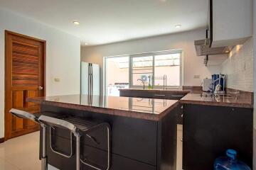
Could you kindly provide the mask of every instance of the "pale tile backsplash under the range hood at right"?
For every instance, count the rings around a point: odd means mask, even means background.
[[[237,45],[222,64],[221,73],[227,74],[227,87],[241,91],[253,91],[253,38]]]

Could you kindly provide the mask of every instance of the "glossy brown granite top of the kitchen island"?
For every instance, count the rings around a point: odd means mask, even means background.
[[[27,98],[27,101],[50,106],[155,121],[161,120],[161,118],[173,108],[178,106],[178,101],[175,100],[118,96],[87,96],[80,94]]]

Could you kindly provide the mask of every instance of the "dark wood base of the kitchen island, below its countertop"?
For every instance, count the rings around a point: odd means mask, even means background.
[[[180,109],[180,108],[179,108]],[[176,170],[176,116],[174,108],[159,121],[127,118],[101,113],[90,113],[55,106],[42,106],[42,111],[76,116],[81,119],[97,119],[111,126],[111,169],[112,170]],[[47,131],[48,163],[60,170],[75,169],[75,137],[73,137],[74,155],[65,158],[50,149],[49,129]],[[82,137],[81,154],[88,162],[106,169],[107,167],[107,131],[90,132],[95,144],[88,137]],[[53,141],[57,149],[70,152],[70,135],[67,130],[55,128]],[[82,165],[82,169],[92,169]]]

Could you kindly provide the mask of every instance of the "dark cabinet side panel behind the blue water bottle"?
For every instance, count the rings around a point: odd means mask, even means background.
[[[183,104],[183,169],[213,169],[235,149],[252,168],[252,108]]]

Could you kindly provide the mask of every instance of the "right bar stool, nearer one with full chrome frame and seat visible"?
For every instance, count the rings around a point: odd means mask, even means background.
[[[43,122],[45,125],[48,125],[50,127],[50,145],[52,145],[51,140],[51,129],[56,128],[63,128],[66,130],[69,130],[70,133],[72,133],[75,136],[76,139],[76,170],[80,170],[80,162],[82,164],[85,164],[87,166],[92,167],[93,169],[102,170],[100,167],[92,165],[88,162],[85,162],[85,160],[80,159],[80,137],[89,137],[93,142],[97,143],[97,140],[95,140],[94,137],[90,136],[87,132],[91,132],[92,130],[96,130],[97,128],[106,128],[107,129],[107,169],[110,169],[110,124],[109,123],[102,123],[99,120],[81,120],[79,118],[65,118],[65,119],[59,119],[59,118],[52,118],[46,115],[41,115],[38,120],[40,122]],[[70,137],[70,143],[72,143],[72,138]],[[71,146],[72,147],[72,146]],[[63,157],[69,157],[68,155],[63,155],[61,152],[56,152],[53,147],[51,147],[53,152],[62,155]],[[71,149],[72,152],[72,149]],[[73,153],[73,152],[72,152]]]

